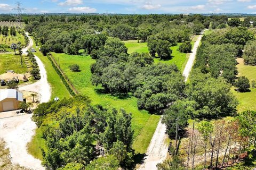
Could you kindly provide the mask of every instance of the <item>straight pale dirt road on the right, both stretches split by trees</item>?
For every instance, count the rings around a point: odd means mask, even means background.
[[[185,77],[185,81],[188,79],[188,75],[192,69],[192,66],[194,64],[195,58],[196,58],[196,51],[200,44],[200,41],[202,39],[202,35],[200,35],[194,45],[194,48],[192,50],[192,53],[189,56],[188,62],[186,64],[186,67],[183,71],[183,76]],[[168,143],[165,143],[167,140],[166,132],[166,125],[162,124],[161,120],[158,122],[156,131],[153,135],[153,138],[150,141],[149,147],[146,152],[146,157],[144,163],[139,167],[140,170],[155,170],[156,165],[158,163],[162,163],[163,160],[167,156],[168,151]]]

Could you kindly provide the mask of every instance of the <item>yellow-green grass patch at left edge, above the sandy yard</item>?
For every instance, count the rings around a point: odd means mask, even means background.
[[[0,74],[6,73],[7,70],[13,70],[15,73],[26,73],[27,66],[22,56],[23,67],[20,64],[20,55],[0,54]]]

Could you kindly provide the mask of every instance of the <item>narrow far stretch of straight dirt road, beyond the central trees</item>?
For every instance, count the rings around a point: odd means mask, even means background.
[[[205,31],[205,30],[204,30]],[[204,32],[203,31],[203,32]],[[189,58],[188,58],[188,62],[185,66],[185,69],[183,71],[183,76],[185,77],[185,81],[188,80],[188,75],[193,67],[193,64],[194,64],[194,61],[196,59],[196,52],[197,52],[197,48],[199,47],[200,45],[200,42],[201,42],[201,39],[203,37],[203,32],[201,33],[201,35],[199,35],[199,37],[197,38],[195,44],[194,44],[194,47],[192,49],[192,53],[190,53],[189,55]]]

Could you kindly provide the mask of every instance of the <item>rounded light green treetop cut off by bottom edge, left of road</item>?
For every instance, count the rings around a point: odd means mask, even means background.
[[[116,156],[108,155],[94,159],[93,162],[85,167],[85,170],[117,170],[118,168],[119,161]]]

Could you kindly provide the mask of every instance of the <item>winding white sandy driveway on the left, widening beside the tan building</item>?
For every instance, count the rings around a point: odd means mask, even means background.
[[[33,40],[29,37],[29,46],[22,50],[23,54],[33,46]],[[41,95],[41,103],[47,102],[51,97],[51,88],[47,81],[46,70],[42,61],[35,56],[38,63],[41,80],[28,86],[20,87],[19,90],[33,91]],[[0,119],[1,138],[6,142],[6,148],[10,149],[10,157],[13,164],[36,170],[45,169],[41,160],[34,158],[27,151],[27,143],[35,134],[36,124],[31,120],[32,114]]]

